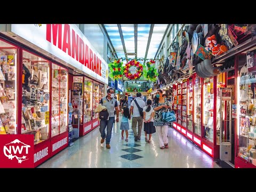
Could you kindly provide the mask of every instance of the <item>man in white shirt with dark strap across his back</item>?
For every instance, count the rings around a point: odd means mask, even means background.
[[[140,140],[141,136],[141,127],[143,123],[143,107],[146,106],[145,101],[142,100],[141,98],[141,93],[138,92],[136,94],[136,97],[132,102],[131,102],[131,108],[130,108],[130,114],[133,114],[132,117],[132,131],[134,133],[134,141]],[[138,122],[138,133],[136,130],[137,127],[137,122]]]

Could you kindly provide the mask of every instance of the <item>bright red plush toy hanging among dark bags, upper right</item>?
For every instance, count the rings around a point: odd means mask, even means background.
[[[206,38],[205,49],[212,51],[212,54],[214,56],[220,55],[220,54],[228,51],[226,45],[217,44],[215,35],[212,35],[211,37]]]

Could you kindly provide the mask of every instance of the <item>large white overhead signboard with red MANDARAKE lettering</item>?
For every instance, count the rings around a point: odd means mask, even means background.
[[[7,27],[6,27],[7,28]],[[75,24],[11,24],[11,32],[108,84],[108,65]]]

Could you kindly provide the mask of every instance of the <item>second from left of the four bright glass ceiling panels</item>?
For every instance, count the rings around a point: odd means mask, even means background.
[[[121,24],[124,44],[127,53],[135,53],[134,45],[134,24]],[[134,55],[127,55],[128,58],[134,58]]]

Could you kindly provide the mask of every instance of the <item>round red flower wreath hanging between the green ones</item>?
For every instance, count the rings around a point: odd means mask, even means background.
[[[143,73],[143,66],[139,61],[131,60],[126,63],[124,75],[129,79],[138,79]]]

